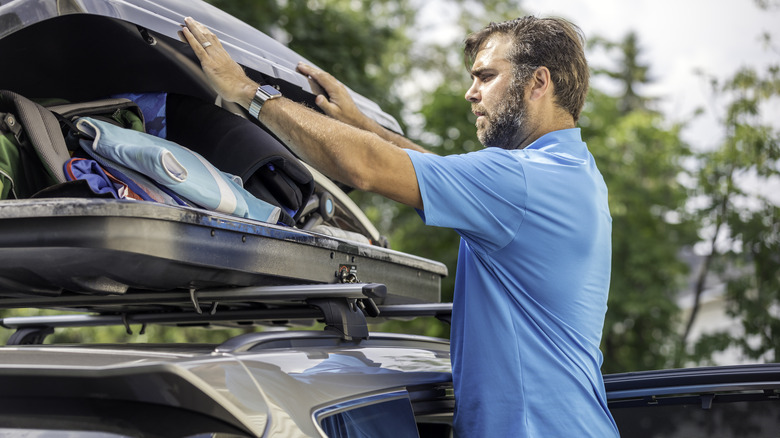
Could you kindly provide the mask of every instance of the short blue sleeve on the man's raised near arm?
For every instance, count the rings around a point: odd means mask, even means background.
[[[427,225],[453,228],[483,252],[510,242],[525,217],[522,164],[510,153],[488,148],[438,156],[407,151],[420,187]]]

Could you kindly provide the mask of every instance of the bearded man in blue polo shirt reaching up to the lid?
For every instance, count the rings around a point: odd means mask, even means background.
[[[330,118],[258,91],[199,23],[187,19],[182,33],[219,94],[302,159],[461,235],[451,347],[459,436],[618,434],[598,349],[611,218],[575,128],[588,89],[576,27],[525,17],[469,36],[466,99],[486,149],[447,157],[370,121],[327,73],[299,66],[327,93],[316,104]]]

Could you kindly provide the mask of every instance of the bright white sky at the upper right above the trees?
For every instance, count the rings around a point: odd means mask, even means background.
[[[629,31],[639,37],[656,82],[644,94],[661,98],[669,120],[687,120],[697,107],[710,111],[696,119],[683,137],[693,146],[712,147],[722,138],[713,111],[709,85],[695,74],[700,69],[719,79],[741,66],[780,64],[780,2],[761,10],[753,0],[525,0],[537,16],[560,16],[573,21],[586,38],[595,35],[618,41]],[[769,32],[775,51],[759,40]],[[591,64],[600,62],[589,60]],[[780,102],[766,109],[767,120],[780,129]]]

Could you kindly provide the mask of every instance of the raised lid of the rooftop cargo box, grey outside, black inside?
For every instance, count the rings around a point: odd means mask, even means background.
[[[314,63],[201,0],[5,2],[0,5],[0,53],[13,67],[0,69],[1,88],[73,101],[160,90],[215,101],[197,58],[177,36],[187,16],[208,26],[252,79],[316,108],[311,85],[295,70],[301,61]],[[364,114],[401,133],[398,122],[376,103],[350,94]]]

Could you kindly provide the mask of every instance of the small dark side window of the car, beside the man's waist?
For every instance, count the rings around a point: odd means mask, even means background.
[[[398,394],[398,393],[395,393]],[[419,437],[407,396],[383,395],[329,408],[320,426],[330,438]],[[325,416],[327,415],[327,416]]]

